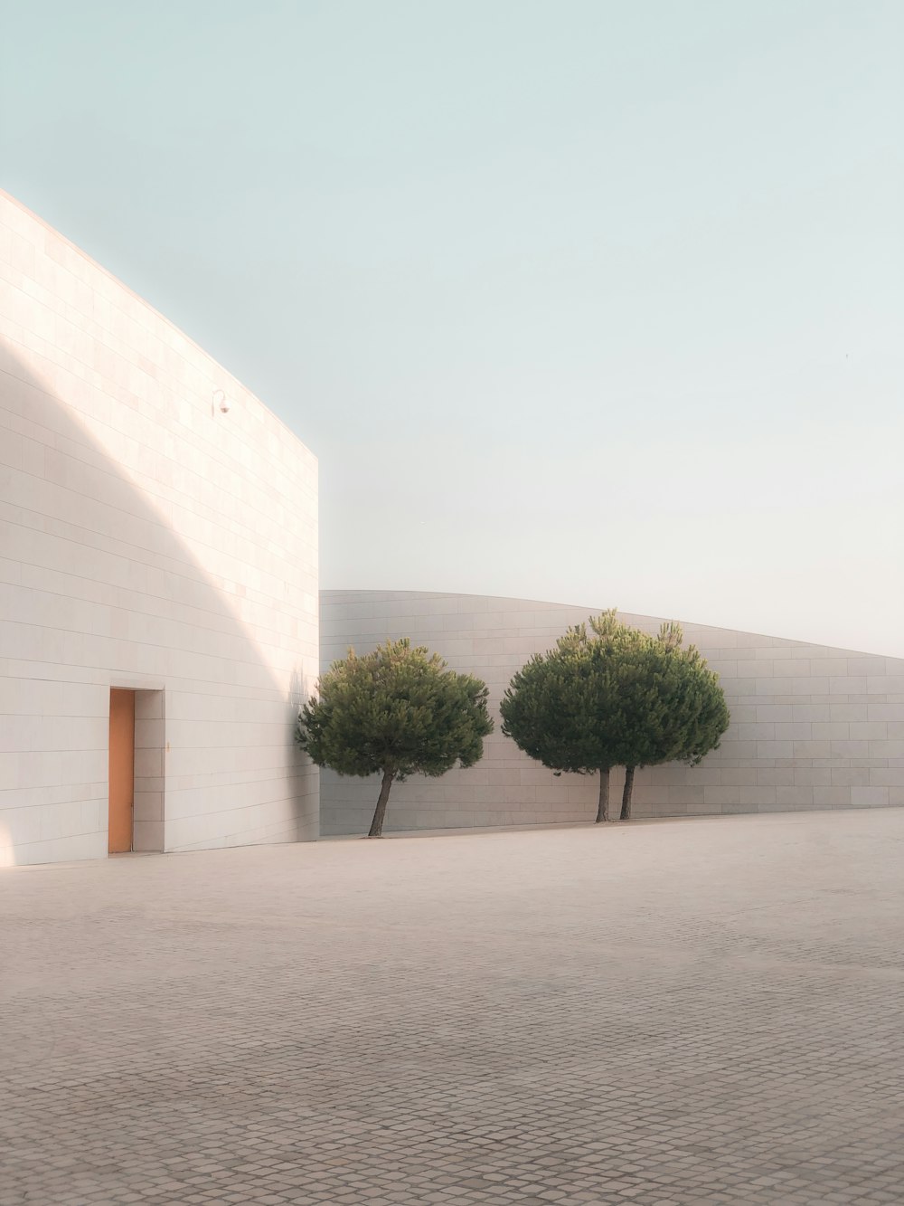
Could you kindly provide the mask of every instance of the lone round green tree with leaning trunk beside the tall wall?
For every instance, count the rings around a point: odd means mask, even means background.
[[[487,686],[446,668],[439,654],[387,640],[334,662],[319,695],[301,709],[297,740],[317,766],[339,774],[382,773],[368,837],[380,837],[393,781],[474,766],[493,731]]]

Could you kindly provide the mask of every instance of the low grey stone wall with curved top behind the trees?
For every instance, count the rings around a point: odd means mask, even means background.
[[[348,645],[364,651],[387,637],[410,637],[438,650],[453,669],[483,678],[495,709],[515,671],[589,614],[470,595],[324,591],[321,661],[327,668]],[[651,616],[622,619],[647,632],[661,624]],[[639,771],[635,815],[904,806],[904,660],[702,625],[685,625],[685,634],[721,675],[732,725],[699,767]],[[498,712],[495,719],[476,767],[393,786],[387,830],[595,816],[595,778],[554,777],[503,737]],[[377,790],[376,779],[323,771],[322,832],[366,832]],[[614,792],[621,792],[615,774]]]

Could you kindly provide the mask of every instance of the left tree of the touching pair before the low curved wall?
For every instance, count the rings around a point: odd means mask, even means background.
[[[503,732],[551,767],[599,774],[597,821],[609,820],[609,783],[624,763],[632,715],[628,687],[641,675],[650,638],[616,619],[615,610],[559,637],[512,678],[500,712]]]

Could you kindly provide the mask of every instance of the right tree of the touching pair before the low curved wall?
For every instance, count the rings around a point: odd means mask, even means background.
[[[630,820],[634,772],[662,762],[697,766],[718,748],[729,713],[718,675],[694,645],[683,646],[681,626],[663,624],[624,678],[627,740],[622,750],[623,821]]]

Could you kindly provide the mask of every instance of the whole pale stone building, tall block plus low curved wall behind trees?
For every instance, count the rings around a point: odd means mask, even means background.
[[[0,193],[0,866],[363,832],[376,781],[294,744],[321,658],[411,637],[497,707],[588,611],[330,591],[319,640],[313,456]],[[639,772],[639,816],[904,806],[904,660],[686,632],[732,727],[699,767]],[[595,798],[497,730],[477,766],[395,784],[386,827],[582,821]]]

